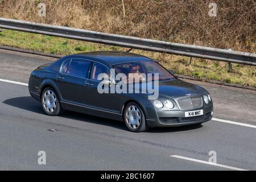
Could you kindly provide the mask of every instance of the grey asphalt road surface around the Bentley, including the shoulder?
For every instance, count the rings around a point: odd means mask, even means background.
[[[55,60],[2,50],[0,57],[0,78],[25,83],[38,65]],[[214,118],[256,125],[255,91],[195,83],[212,95]],[[46,165],[38,164],[39,151],[46,152]],[[0,81],[0,169],[228,169],[171,157],[208,161],[209,151],[218,164],[255,170],[256,129],[209,121],[131,133],[122,122],[85,114],[50,117],[27,86]]]

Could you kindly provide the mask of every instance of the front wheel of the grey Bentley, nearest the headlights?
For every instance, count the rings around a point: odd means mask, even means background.
[[[135,102],[127,104],[123,114],[123,119],[125,121],[125,125],[130,131],[143,132],[149,129],[143,110]]]

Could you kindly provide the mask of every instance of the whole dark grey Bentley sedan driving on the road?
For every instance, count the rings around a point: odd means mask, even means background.
[[[28,88],[48,115],[72,110],[123,121],[134,132],[200,125],[213,117],[207,90],[129,52],[64,56],[32,71]]]

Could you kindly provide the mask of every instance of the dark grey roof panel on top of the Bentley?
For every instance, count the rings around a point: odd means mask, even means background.
[[[138,62],[138,61],[154,61],[146,56],[138,55],[136,53],[131,53],[131,52],[123,52],[123,51],[83,52],[83,53],[71,55],[71,57],[73,58],[79,57],[79,58],[98,61],[102,64],[109,65],[110,67],[115,64],[123,64],[123,63]]]

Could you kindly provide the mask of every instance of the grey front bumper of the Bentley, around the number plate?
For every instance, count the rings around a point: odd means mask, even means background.
[[[175,127],[195,125],[210,121],[213,117],[213,105],[202,107],[194,110],[204,110],[203,115],[195,117],[185,117],[185,111],[156,111],[155,119],[146,119],[147,125],[150,127]]]

